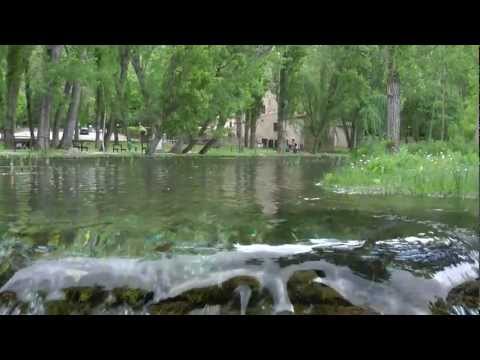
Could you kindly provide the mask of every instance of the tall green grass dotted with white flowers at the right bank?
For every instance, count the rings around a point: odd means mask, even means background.
[[[470,149],[436,142],[388,153],[382,143],[368,144],[322,184],[344,192],[478,198],[478,154]]]

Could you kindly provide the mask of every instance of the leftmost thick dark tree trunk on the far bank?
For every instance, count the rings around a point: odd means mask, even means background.
[[[7,94],[5,116],[5,146],[15,149],[15,128],[17,118],[17,100],[23,73],[23,46],[9,45],[7,53]]]

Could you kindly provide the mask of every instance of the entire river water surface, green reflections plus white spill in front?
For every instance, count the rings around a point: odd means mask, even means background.
[[[0,261],[23,269],[0,286],[138,285],[158,301],[251,276],[291,312],[289,278],[317,271],[354,305],[429,314],[478,278],[478,201],[328,193],[318,183],[336,162],[0,160]]]

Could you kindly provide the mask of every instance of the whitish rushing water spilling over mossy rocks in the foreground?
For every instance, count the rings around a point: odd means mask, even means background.
[[[287,282],[297,271],[321,270],[325,277],[316,282],[326,284],[354,305],[368,306],[381,314],[428,314],[435,298],[445,298],[453,287],[478,278],[478,252],[468,261],[446,266],[432,278],[414,276],[405,270],[391,269],[387,281],[372,282],[347,266],[326,260],[303,261],[281,267],[279,257],[294,257],[321,248],[354,250],[362,241],[313,239],[311,245],[237,245],[236,251],[210,256],[178,255],[159,260],[122,258],[65,258],[42,260],[21,269],[0,289],[14,292],[17,298],[35,303],[35,294],[47,293],[47,299],[62,299],[63,289],[101,286],[106,290],[134,288],[153,292],[152,302],[175,297],[194,288],[220,285],[237,276],[257,279],[274,301],[274,312],[293,312]],[[255,260],[253,262],[252,260]],[[241,313],[251,296],[251,289],[239,287]],[[35,306],[32,305],[32,306]],[[37,304],[36,313],[42,313]],[[39,310],[40,309],[40,310]],[[216,313],[217,308],[197,309],[194,313]]]

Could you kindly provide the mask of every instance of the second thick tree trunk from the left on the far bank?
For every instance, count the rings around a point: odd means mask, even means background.
[[[62,49],[63,45],[47,45],[46,67],[50,64],[58,63]],[[45,74],[47,70],[45,69]],[[36,143],[36,147],[41,150],[47,150],[50,143],[50,108],[52,106],[52,90],[54,86],[54,80],[48,79],[46,75],[45,81],[47,86],[40,105],[40,121]]]

